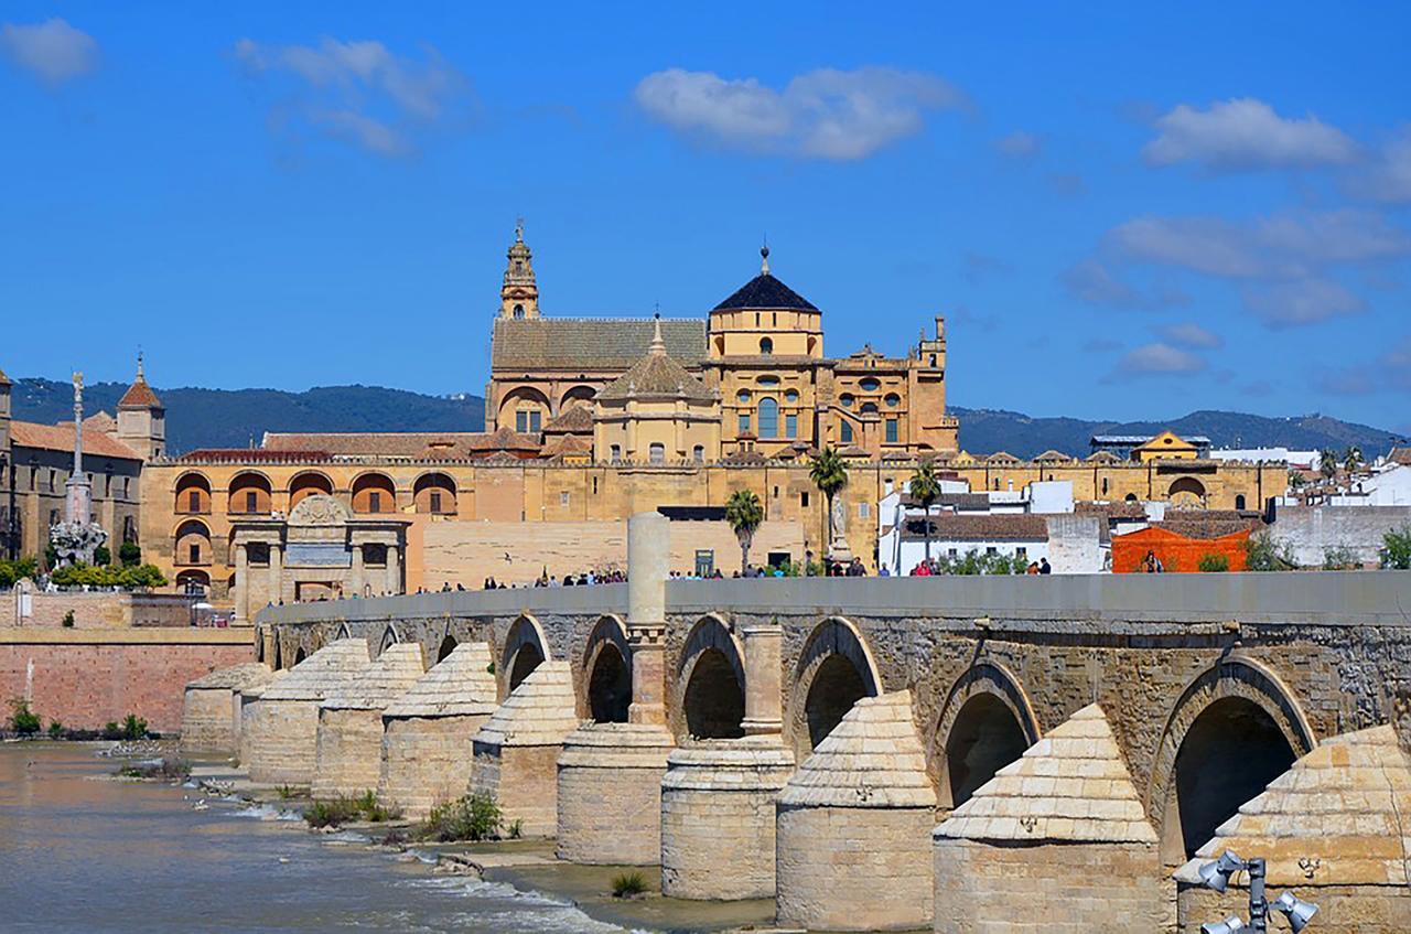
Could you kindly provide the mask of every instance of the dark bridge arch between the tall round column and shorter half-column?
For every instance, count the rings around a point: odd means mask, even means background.
[[[715,614],[686,636],[676,676],[676,704],[686,734],[697,739],[745,735],[745,665],[739,641]]]

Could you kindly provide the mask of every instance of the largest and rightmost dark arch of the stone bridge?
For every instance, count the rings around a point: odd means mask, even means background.
[[[1151,766],[1146,806],[1163,863],[1194,855],[1316,742],[1294,693],[1264,665],[1226,657],[1198,674],[1167,717]]]

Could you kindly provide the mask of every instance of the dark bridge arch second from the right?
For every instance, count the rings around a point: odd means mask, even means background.
[[[951,686],[928,749],[940,804],[955,808],[1041,736],[1019,677],[998,662],[978,662]]]

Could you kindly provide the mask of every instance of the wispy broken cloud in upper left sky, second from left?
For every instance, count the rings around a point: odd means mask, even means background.
[[[285,128],[309,127],[378,155],[413,152],[420,131],[461,120],[474,104],[466,76],[429,47],[418,62],[377,41],[261,45],[244,38],[234,55],[251,76],[292,85],[296,103],[281,121]]]

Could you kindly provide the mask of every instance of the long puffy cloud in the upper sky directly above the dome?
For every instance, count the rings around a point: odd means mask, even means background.
[[[799,75],[783,90],[753,78],[672,68],[643,78],[634,93],[652,119],[724,147],[820,159],[861,159],[914,135],[931,110],[965,97],[924,72],[893,68]]]

